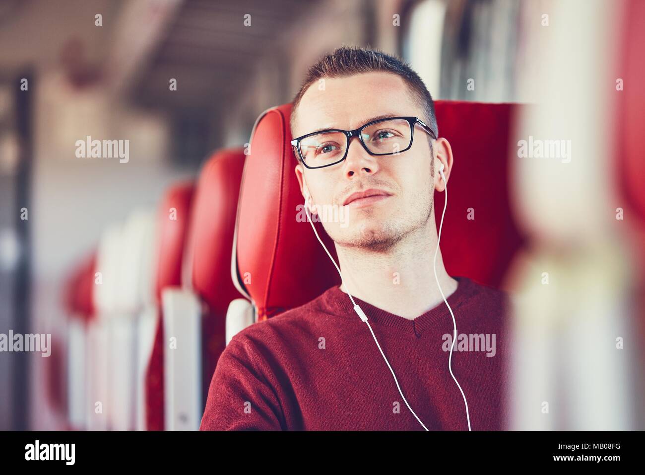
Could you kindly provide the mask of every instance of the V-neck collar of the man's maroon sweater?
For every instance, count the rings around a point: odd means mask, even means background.
[[[452,308],[454,312],[462,302],[466,301],[473,295],[473,293],[475,293],[475,285],[472,280],[468,279],[468,277],[453,276],[453,279],[457,280],[457,290],[449,295],[447,300],[448,304],[450,304],[450,308]],[[347,293],[341,290],[339,285],[329,288],[323,293],[323,295],[321,295],[321,297],[324,304],[334,313],[338,312],[345,316],[355,317],[357,321],[360,321],[360,317],[353,310],[353,304],[350,297]],[[361,306],[361,309],[367,315],[369,322],[376,322],[383,326],[399,328],[400,330],[413,333],[417,335],[417,337],[421,336],[421,333],[424,332],[424,330],[432,327],[436,322],[441,321],[441,319],[446,317],[446,315],[452,320],[452,316],[450,315],[450,311],[448,311],[448,307],[446,307],[445,302],[441,302],[436,307],[431,308],[411,320],[401,317],[400,315],[394,315],[389,311],[382,310],[381,308],[362,301],[353,295],[352,297],[354,298],[354,301]]]

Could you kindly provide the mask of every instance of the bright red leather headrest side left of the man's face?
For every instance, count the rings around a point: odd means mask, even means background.
[[[341,282],[311,225],[296,220],[304,199],[293,172],[290,114],[286,104],[258,119],[239,198],[237,278],[255,303],[258,321]],[[336,259],[332,241],[324,232],[323,237]]]

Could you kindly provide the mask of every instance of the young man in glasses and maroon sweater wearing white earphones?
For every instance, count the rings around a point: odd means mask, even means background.
[[[338,48],[310,68],[291,129],[312,212],[348,212],[323,222],[342,285],[233,337],[201,429],[503,428],[506,295],[444,269],[433,193],[453,156],[424,83],[392,56]]]

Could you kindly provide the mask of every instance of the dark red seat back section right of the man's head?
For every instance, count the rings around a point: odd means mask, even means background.
[[[513,255],[524,243],[510,203],[508,145],[521,106],[437,101],[439,135],[452,145],[448,207],[441,254],[450,275],[499,287]],[[437,229],[444,193],[435,192]],[[472,208],[474,219],[468,219]],[[471,216],[473,216],[471,215]]]

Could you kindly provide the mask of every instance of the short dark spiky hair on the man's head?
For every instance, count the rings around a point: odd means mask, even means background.
[[[435,103],[419,74],[414,72],[406,61],[385,54],[381,50],[348,46],[337,48],[332,54],[323,56],[309,68],[303,85],[292,101],[290,118],[292,132],[295,111],[300,105],[304,93],[313,83],[322,78],[342,78],[374,71],[392,72],[406,82],[412,100],[419,104],[424,111],[424,121],[435,133],[435,137],[439,137]]]

